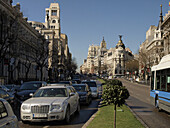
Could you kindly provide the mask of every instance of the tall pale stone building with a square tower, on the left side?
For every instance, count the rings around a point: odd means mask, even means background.
[[[51,3],[50,7],[46,8],[45,23],[28,22],[50,42],[48,59],[49,79],[64,79],[67,65],[72,58],[68,47],[68,37],[66,34],[61,33],[59,4]]]

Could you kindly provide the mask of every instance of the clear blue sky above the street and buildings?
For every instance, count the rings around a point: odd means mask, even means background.
[[[163,16],[168,12],[169,0],[13,0],[21,4],[21,11],[29,21],[45,21],[45,8],[60,4],[61,32],[67,34],[70,52],[78,66],[87,58],[91,44],[115,47],[118,35],[133,53],[137,53],[151,25],[158,25],[160,4]]]

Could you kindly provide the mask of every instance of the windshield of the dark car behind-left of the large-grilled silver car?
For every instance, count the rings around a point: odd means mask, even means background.
[[[21,86],[21,90],[37,90],[38,88],[41,87],[41,83],[24,83]]]

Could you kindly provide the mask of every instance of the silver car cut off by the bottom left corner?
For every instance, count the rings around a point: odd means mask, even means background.
[[[10,104],[0,98],[0,128],[18,128],[18,119]]]

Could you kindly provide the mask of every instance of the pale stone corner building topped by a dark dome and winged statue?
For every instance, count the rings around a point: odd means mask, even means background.
[[[133,59],[133,54],[129,48],[125,48],[122,36],[115,48],[110,48],[105,54],[105,64],[107,65],[107,74],[113,78],[125,75],[125,62]]]

